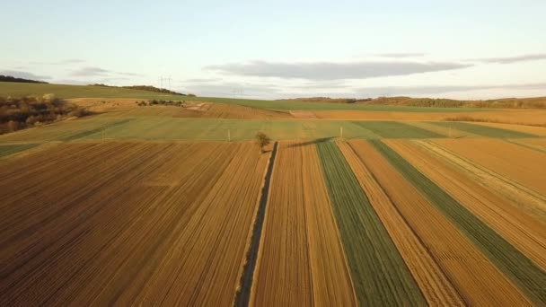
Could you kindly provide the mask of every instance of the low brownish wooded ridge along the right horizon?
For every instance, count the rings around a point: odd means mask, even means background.
[[[356,104],[370,104],[370,105],[429,107],[429,108],[546,109],[546,97],[503,98],[503,99],[484,100],[484,101],[459,101],[459,100],[443,99],[443,98],[412,98],[412,97],[406,97],[406,96],[378,97],[374,99],[311,97],[311,98],[287,99],[282,101],[356,103]]]

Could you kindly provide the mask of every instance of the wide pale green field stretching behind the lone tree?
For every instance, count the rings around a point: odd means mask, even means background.
[[[102,114],[58,122],[0,136],[0,144],[74,140],[251,140],[264,132],[274,140],[339,137],[379,138],[372,131],[342,120],[245,120],[222,118],[114,117]]]

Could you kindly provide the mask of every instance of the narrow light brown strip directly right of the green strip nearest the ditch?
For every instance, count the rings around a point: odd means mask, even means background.
[[[418,283],[429,305],[462,306],[462,298],[454,285],[439,268],[427,248],[406,223],[399,211],[385,194],[374,175],[360,162],[357,154],[347,143],[338,143],[339,149],[355,173],[374,210],[400,251],[410,272]]]

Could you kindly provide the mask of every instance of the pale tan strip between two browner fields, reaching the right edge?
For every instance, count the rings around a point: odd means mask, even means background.
[[[462,171],[481,186],[510,200],[510,203],[514,204],[518,209],[546,222],[546,197],[513,180],[506,179],[495,171],[490,171],[468,159],[464,159],[435,143],[417,140],[415,143],[425,148],[428,153],[434,153],[445,162],[450,163],[450,165]]]

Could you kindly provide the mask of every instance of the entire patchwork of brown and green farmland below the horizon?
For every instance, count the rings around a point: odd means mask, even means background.
[[[544,127],[52,89],[101,111],[0,136],[2,306],[546,303]]]

